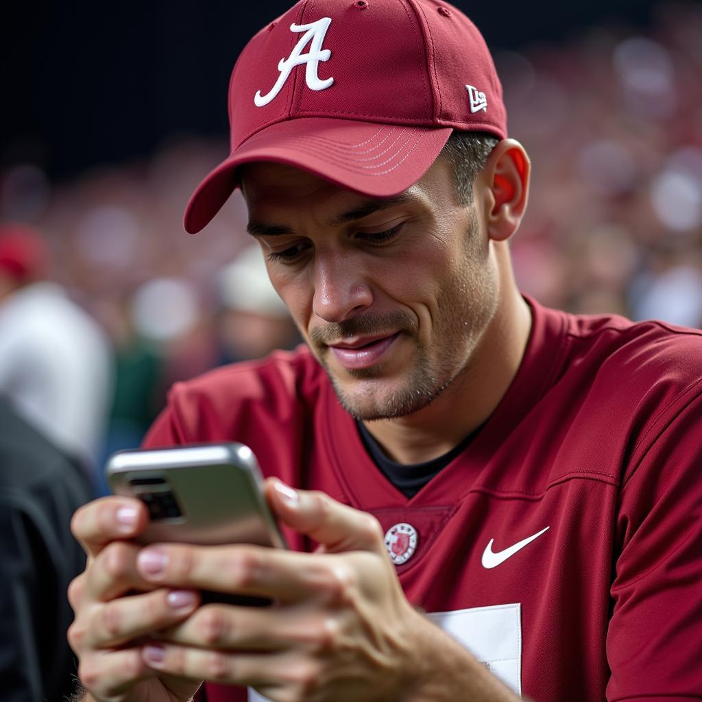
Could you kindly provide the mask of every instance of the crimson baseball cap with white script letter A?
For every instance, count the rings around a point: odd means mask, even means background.
[[[199,232],[275,161],[371,197],[416,183],[453,129],[505,138],[502,86],[477,27],[437,0],[300,0],[256,34],[230,80],[231,153],[185,210]]]

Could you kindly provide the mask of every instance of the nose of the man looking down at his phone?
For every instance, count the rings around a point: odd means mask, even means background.
[[[351,256],[317,256],[312,301],[317,317],[325,322],[343,322],[372,302],[371,287]]]

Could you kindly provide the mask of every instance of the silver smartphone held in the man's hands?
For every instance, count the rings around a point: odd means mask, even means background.
[[[115,495],[137,498],[149,510],[149,523],[136,538],[140,543],[286,548],[265,501],[256,456],[244,444],[119,451],[107,461],[105,477]],[[270,604],[259,597],[206,591],[203,602]]]

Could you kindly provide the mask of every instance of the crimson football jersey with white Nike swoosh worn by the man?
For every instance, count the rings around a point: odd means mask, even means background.
[[[406,596],[536,702],[702,698],[702,332],[529,304],[505,397],[411,499],[304,347],[174,386],[146,444],[237,440],[266,475],[411,525]]]

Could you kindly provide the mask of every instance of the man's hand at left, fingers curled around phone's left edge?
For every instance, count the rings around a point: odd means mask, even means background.
[[[183,621],[199,604],[193,590],[159,588],[140,576],[140,547],[127,540],[147,521],[140,501],[107,497],[80,508],[71,523],[88,563],[69,587],[75,621],[68,639],[79,657],[81,682],[98,702],[185,702],[199,687],[143,660],[140,639]]]

